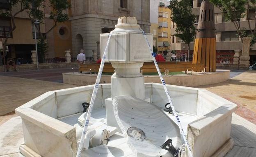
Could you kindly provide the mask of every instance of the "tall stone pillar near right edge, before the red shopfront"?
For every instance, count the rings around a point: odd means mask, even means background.
[[[242,55],[240,56],[239,65],[249,68],[249,65],[250,65],[249,53],[250,53],[251,38],[250,37],[244,37],[242,40],[243,40],[243,43],[242,43]]]

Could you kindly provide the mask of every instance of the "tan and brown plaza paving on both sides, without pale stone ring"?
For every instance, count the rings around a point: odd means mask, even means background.
[[[0,73],[0,125],[14,117],[14,109],[52,90],[76,85],[62,82],[62,73],[76,69],[42,69]],[[256,124],[256,71],[232,71],[231,79],[218,84],[197,86],[238,104],[236,113]]]

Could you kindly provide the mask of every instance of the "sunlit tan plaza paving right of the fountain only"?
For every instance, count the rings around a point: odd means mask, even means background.
[[[204,88],[238,105],[236,114],[256,124],[256,71],[238,72],[231,79]]]

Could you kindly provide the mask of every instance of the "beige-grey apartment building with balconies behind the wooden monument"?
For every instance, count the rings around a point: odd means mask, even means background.
[[[199,10],[201,2],[203,0],[191,0],[192,13],[199,17]],[[254,12],[250,12],[249,15],[246,15],[245,18],[241,19],[240,25],[241,28],[245,27],[249,31],[248,18],[254,16]],[[253,22],[254,23],[254,20]],[[254,27],[254,26],[253,26]],[[242,42],[238,38],[235,26],[232,22],[227,21],[221,10],[215,7],[215,37],[216,37],[216,62],[217,63],[233,63],[233,55],[235,50],[242,50]],[[171,28],[171,36],[175,33],[175,28]],[[190,52],[190,57],[192,57],[194,42],[190,44],[192,48]],[[170,49],[175,50],[178,56],[187,55],[187,44],[185,44],[180,39],[174,37],[171,40]],[[250,64],[256,62],[256,44],[251,46],[250,50]]]

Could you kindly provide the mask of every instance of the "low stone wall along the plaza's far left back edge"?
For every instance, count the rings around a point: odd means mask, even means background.
[[[39,69],[61,69],[61,68],[78,68],[78,62],[63,62],[63,63],[41,63]],[[16,65],[17,71],[36,70],[37,64],[21,64]],[[0,66],[0,72],[4,72],[4,66]],[[10,66],[10,71],[13,71],[13,66]]]

